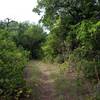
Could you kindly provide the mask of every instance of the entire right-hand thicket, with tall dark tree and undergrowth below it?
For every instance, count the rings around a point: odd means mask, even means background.
[[[78,86],[84,81],[93,86],[87,100],[100,100],[100,0],[38,0],[33,11],[44,11],[41,22],[50,30],[44,59],[70,66]]]

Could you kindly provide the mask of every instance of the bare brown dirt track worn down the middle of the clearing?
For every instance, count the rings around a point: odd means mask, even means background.
[[[41,98],[40,100],[55,100],[54,75],[59,71],[56,65],[36,63],[41,71]]]

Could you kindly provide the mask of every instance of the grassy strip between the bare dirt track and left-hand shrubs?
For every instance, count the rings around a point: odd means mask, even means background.
[[[24,71],[26,86],[29,88],[30,96],[26,100],[40,100],[40,69],[36,61],[29,61]]]

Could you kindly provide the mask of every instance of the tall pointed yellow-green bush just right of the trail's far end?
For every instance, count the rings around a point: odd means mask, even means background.
[[[66,29],[59,18],[46,38],[42,49],[45,59],[62,63],[66,57]]]

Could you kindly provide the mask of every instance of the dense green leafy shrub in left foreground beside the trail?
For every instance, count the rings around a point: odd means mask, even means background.
[[[28,52],[16,47],[9,39],[0,36],[0,97],[8,100],[15,91],[24,86],[23,69]],[[10,98],[11,100],[11,98]]]

